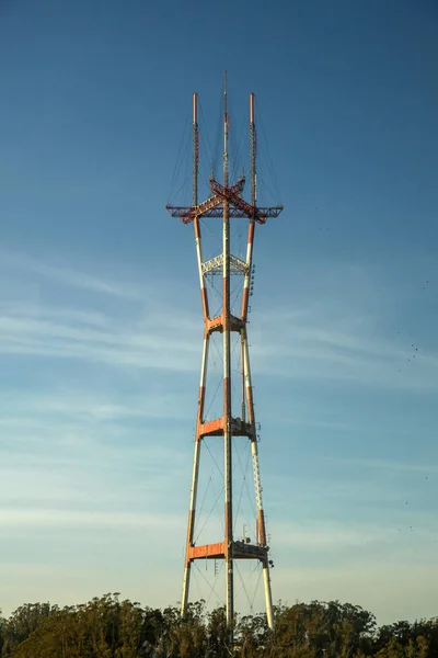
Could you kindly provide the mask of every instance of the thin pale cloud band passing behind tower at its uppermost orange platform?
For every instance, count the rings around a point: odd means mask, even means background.
[[[88,317],[76,310],[62,316],[51,308],[31,306],[27,310],[10,310],[0,318],[0,352],[125,367],[196,371],[201,336],[198,318],[182,313],[176,328],[175,316],[160,316],[157,309],[143,313],[140,319],[120,319],[103,313]],[[418,353],[416,362],[407,364],[410,352],[405,349],[379,338],[349,336],[336,327],[321,331],[322,324],[324,318],[316,316],[308,318],[306,326],[289,325],[275,343],[261,331],[252,348],[254,372],[392,389],[437,389],[435,354]],[[401,366],[404,373],[399,372]]]

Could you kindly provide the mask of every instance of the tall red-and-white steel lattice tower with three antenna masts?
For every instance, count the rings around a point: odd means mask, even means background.
[[[191,489],[191,503],[188,513],[188,527],[186,540],[186,555],[184,567],[182,614],[188,603],[191,566],[195,559],[223,559],[226,560],[226,613],[227,625],[230,633],[230,644],[233,644],[234,619],[234,574],[233,560],[260,560],[263,566],[266,614],[270,628],[274,625],[273,602],[269,579],[269,559],[265,529],[265,515],[262,502],[262,487],[258,468],[257,434],[254,417],[253,392],[250,370],[250,354],[247,343],[247,314],[249,297],[252,286],[253,246],[256,224],[265,224],[268,217],[277,217],[283,206],[258,207],[256,205],[256,132],[254,123],[254,94],[250,94],[250,177],[251,203],[242,197],[245,179],[241,177],[234,184],[229,182],[229,115],[227,109],[227,73],[223,86],[223,182],[222,184],[210,178],[210,195],[206,201],[198,201],[198,97],[193,94],[193,205],[166,206],[173,217],[181,217],[184,224],[194,224],[196,253],[199,270],[200,296],[204,311],[204,349],[200,371],[200,385],[195,433],[195,454],[193,463],[193,478]],[[222,253],[204,261],[201,249],[200,218],[222,218]],[[242,218],[249,220],[246,260],[241,260],[230,252],[230,220]],[[210,317],[209,299],[206,285],[207,274],[222,275],[222,308],[220,315]],[[241,314],[237,317],[230,310],[230,275],[243,277],[243,293],[241,299]],[[241,343],[241,417],[234,417],[231,409],[231,354],[230,334],[234,331],[240,334]],[[223,358],[223,412],[221,418],[205,420],[206,376],[208,367],[209,341],[214,332],[222,333]],[[206,436],[223,436],[224,453],[224,537],[215,544],[196,546],[194,544],[196,499],[199,475],[199,458],[203,439]],[[256,541],[254,544],[234,541],[233,537],[233,508],[232,508],[232,440],[233,436],[246,436],[251,442],[251,454],[254,472],[255,501],[257,509]],[[272,564],[272,563],[270,563]]]

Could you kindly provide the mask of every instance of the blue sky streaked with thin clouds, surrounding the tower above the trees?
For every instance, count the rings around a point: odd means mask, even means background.
[[[250,325],[274,599],[436,615],[436,4],[158,4],[0,7],[0,606],[181,595],[203,327],[164,206],[227,68],[285,204]]]

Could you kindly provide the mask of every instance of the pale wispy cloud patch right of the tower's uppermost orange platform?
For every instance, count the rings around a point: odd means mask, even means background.
[[[399,390],[436,390],[438,355],[384,337],[383,318],[372,326],[348,307],[326,304],[257,317],[252,354],[258,370],[293,379],[338,381]],[[267,319],[266,319],[267,318]],[[272,318],[281,332],[273,334]],[[269,326],[267,325],[269,322]],[[380,331],[379,331],[380,329]]]

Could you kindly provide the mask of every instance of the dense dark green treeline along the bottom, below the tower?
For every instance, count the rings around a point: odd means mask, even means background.
[[[438,658],[438,617],[377,626],[372,613],[350,603],[297,603],[235,624],[237,658]],[[1,658],[228,658],[224,610],[192,603],[141,608],[105,594],[58,608],[22,605],[0,617]]]

